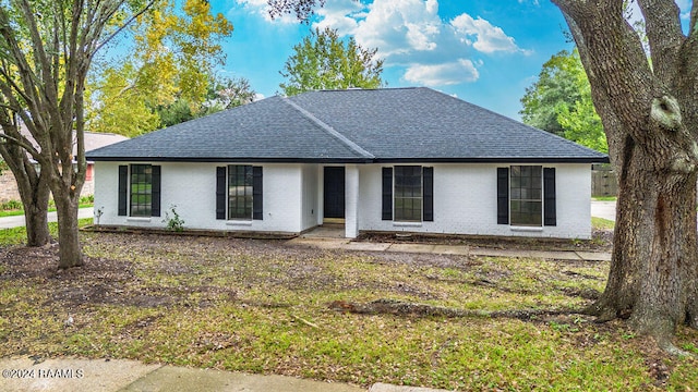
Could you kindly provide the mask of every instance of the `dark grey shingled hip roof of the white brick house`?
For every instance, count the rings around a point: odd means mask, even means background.
[[[272,97],[93,150],[95,161],[607,162],[425,87]]]

